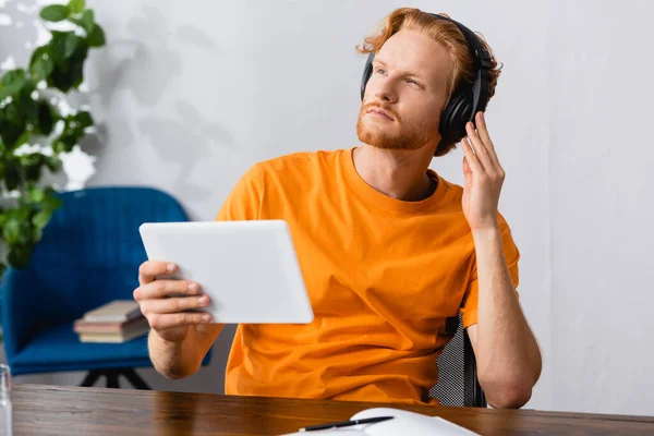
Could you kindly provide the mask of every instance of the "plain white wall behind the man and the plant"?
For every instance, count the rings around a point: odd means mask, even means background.
[[[0,1],[25,22],[19,31],[0,26],[0,61],[12,55],[24,63],[23,41],[36,37],[17,2]],[[214,218],[253,162],[356,143],[363,58],[353,47],[393,8],[407,5],[90,3],[109,45],[92,55],[87,69],[105,132],[102,144],[88,148],[97,156],[89,184],[155,185],[202,220]],[[654,414],[647,371],[654,358],[654,90],[641,85],[654,66],[647,31],[654,3],[410,5],[481,31],[505,63],[487,119],[508,173],[500,206],[522,252],[521,303],[544,353],[528,408]],[[457,150],[433,168],[460,183],[460,164]],[[143,374],[157,389],[220,392],[229,339],[220,339],[217,359],[191,379]],[[20,380],[74,384],[80,377]]]

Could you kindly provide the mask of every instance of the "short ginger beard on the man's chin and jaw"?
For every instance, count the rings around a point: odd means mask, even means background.
[[[363,118],[372,108],[383,108],[395,121],[373,119],[364,121]],[[377,123],[392,123],[395,125],[392,129],[384,129]],[[427,125],[411,121],[404,122],[398,113],[377,102],[362,105],[359,111],[359,121],[356,121],[359,141],[383,149],[414,150],[422,148],[438,133],[437,131],[437,126],[431,123]]]

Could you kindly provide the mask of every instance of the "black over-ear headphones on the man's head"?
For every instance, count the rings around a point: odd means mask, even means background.
[[[465,133],[465,123],[474,122],[474,116],[479,111],[486,109],[488,104],[488,71],[491,70],[491,53],[484,48],[477,36],[468,27],[444,15],[429,15],[453,23],[465,37],[470,51],[474,58],[474,69],[476,70],[475,80],[472,84],[468,81],[461,81],[457,89],[452,93],[446,108],[440,117],[438,131],[441,140],[437,150],[443,144],[453,144],[461,141]],[[361,80],[361,100],[365,95],[365,85],[373,74],[373,60],[375,53],[370,53],[363,77]]]

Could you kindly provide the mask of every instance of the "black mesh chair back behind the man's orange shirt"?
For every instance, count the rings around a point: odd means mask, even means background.
[[[485,408],[486,397],[477,380],[476,361],[461,314],[447,319],[446,330],[453,337],[438,356],[438,383],[429,389],[429,397],[437,398],[441,405]]]

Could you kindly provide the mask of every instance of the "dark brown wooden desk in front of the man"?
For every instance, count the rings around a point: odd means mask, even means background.
[[[378,403],[14,385],[14,435],[279,435]],[[654,435],[654,417],[401,407],[482,435]]]

